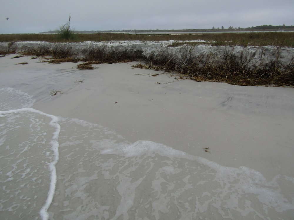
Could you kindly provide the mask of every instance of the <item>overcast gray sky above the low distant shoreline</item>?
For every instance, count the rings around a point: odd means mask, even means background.
[[[1,33],[294,25],[294,0],[0,0]],[[6,20],[6,17],[9,19]]]

